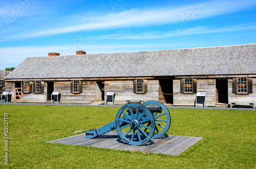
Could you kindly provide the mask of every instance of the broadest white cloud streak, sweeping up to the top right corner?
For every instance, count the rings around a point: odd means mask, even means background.
[[[132,9],[121,13],[109,13],[103,16],[87,16],[83,18],[84,23],[80,25],[41,30],[29,34],[18,34],[15,35],[15,37],[33,38],[94,29],[139,27],[184,22],[187,20],[208,18],[234,11],[241,11],[255,5],[255,1],[229,0],[205,1],[204,3],[182,6],[177,9]],[[67,20],[67,22],[69,22],[69,20]]]

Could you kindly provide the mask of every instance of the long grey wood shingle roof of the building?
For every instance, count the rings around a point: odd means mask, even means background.
[[[25,59],[5,79],[256,74],[256,44]]]

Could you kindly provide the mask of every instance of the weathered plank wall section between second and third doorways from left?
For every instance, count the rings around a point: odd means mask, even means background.
[[[83,81],[82,93],[71,92],[71,82],[54,82],[54,90],[60,90],[61,103],[93,103],[96,96],[96,82]]]

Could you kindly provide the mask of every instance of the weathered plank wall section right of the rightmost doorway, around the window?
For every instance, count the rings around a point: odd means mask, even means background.
[[[256,78],[252,78],[252,93],[232,93],[232,79],[228,79],[228,102],[255,102],[256,103]]]

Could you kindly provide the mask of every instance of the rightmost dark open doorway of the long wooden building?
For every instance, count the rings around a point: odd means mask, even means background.
[[[216,79],[216,103],[228,104],[228,79]]]

